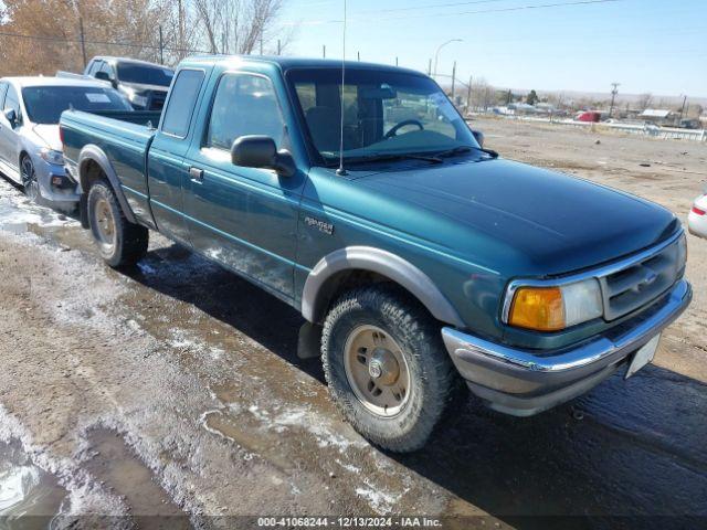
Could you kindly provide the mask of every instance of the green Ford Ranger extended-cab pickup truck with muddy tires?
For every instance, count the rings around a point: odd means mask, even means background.
[[[291,304],[390,451],[422,447],[461,381],[525,416],[633,374],[692,299],[672,213],[499,158],[418,72],[189,59],[161,115],[68,110],[61,136],[108,265],[156,230]]]

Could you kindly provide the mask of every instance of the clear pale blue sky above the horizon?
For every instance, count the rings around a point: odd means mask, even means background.
[[[349,0],[349,59],[482,76],[504,87],[707,96],[707,0]],[[342,0],[289,0],[288,54],[341,56]],[[435,6],[435,7],[432,7]],[[423,8],[424,7],[424,8]],[[500,11],[506,10],[506,11]],[[483,12],[486,11],[486,12]]]

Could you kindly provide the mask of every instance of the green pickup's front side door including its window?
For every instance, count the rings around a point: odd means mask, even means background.
[[[189,237],[197,251],[291,299],[305,174],[234,166],[230,152],[236,138],[249,135],[288,147],[278,94],[266,76],[226,72],[205,118],[186,160]]]

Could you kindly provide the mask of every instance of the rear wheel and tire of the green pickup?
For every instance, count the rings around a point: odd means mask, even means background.
[[[110,267],[131,267],[147,253],[149,231],[126,219],[106,181],[94,183],[88,191],[88,223],[101,257]]]

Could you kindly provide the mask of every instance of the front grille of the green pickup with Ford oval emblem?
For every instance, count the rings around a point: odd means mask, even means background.
[[[685,272],[684,237],[621,271],[599,278],[604,319],[615,320],[654,300]]]

